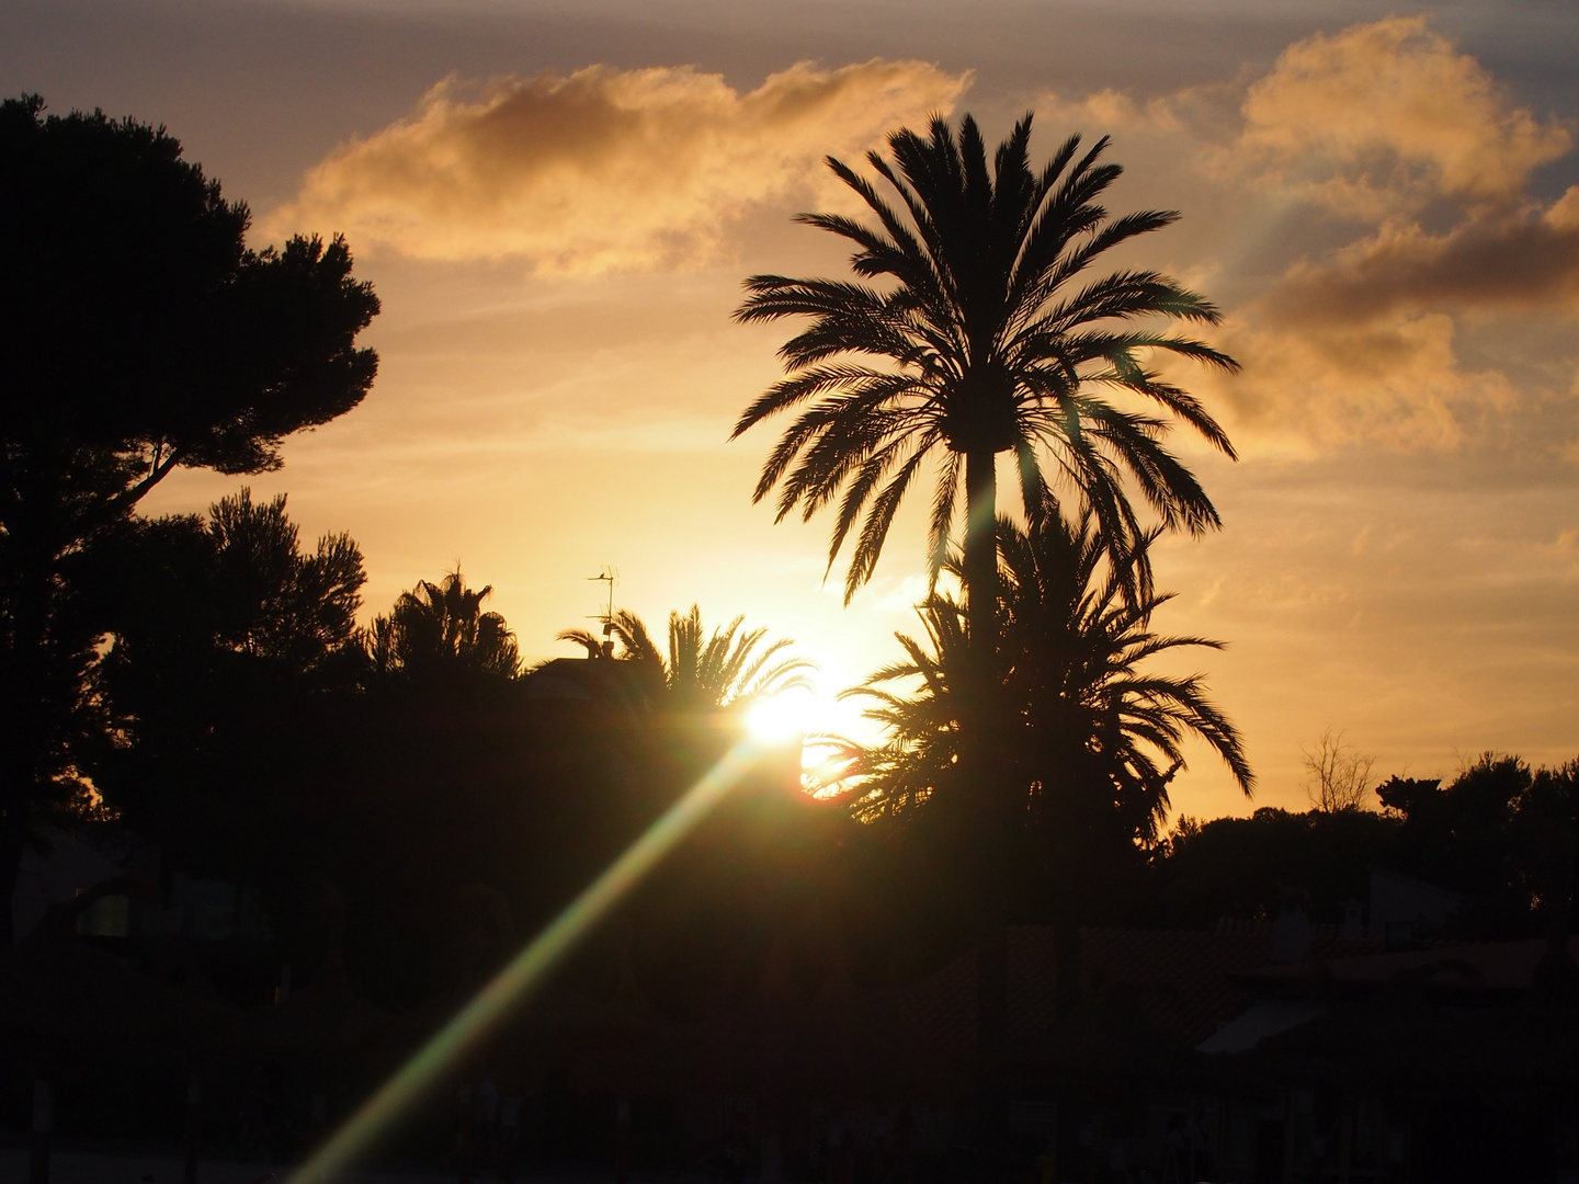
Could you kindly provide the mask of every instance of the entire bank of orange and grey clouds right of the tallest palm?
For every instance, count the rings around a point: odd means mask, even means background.
[[[1140,166],[1189,169],[1233,210],[1241,254],[1180,270],[1236,290],[1217,343],[1244,371],[1178,377],[1225,406],[1252,450],[1457,447],[1522,396],[1465,360],[1465,327],[1579,311],[1579,188],[1530,191],[1570,128],[1516,106],[1423,17],[1315,33],[1262,77],[1045,99],[1064,123],[1120,136]],[[1258,278],[1293,219],[1304,256]]]

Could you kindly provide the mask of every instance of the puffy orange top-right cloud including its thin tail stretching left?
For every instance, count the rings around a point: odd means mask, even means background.
[[[1519,204],[1573,129],[1514,106],[1426,17],[1388,17],[1295,41],[1260,76],[1137,99],[1044,93],[1061,123],[1187,145],[1195,169],[1279,202],[1380,223],[1443,200]]]

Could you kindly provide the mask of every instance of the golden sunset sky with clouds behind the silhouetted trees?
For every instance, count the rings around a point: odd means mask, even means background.
[[[1415,13],[1415,9],[1410,9]],[[1238,377],[1181,373],[1225,529],[1170,540],[1167,631],[1246,734],[1257,804],[1303,807],[1301,745],[1378,775],[1484,748],[1579,753],[1579,21],[1566,5],[21,3],[0,82],[166,123],[257,243],[344,230],[384,314],[363,407],[286,447],[306,534],[347,529],[368,611],[461,564],[534,655],[616,601],[788,635],[826,696],[895,657],[919,505],[850,608],[829,523],[750,489],[728,444],[786,330],[753,272],[838,275],[797,210],[818,161],[928,112],[1039,153],[1112,134],[1113,208],[1183,221],[1129,256],[1225,311]],[[763,431],[763,429],[758,429]],[[234,478],[186,474],[148,508]],[[838,725],[840,717],[831,715]],[[1205,753],[1189,813],[1244,811]]]

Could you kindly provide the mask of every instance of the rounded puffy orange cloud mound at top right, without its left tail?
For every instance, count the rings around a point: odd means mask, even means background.
[[[1450,197],[1516,199],[1573,145],[1514,107],[1495,79],[1424,17],[1391,17],[1288,46],[1241,104],[1217,164],[1358,218]]]

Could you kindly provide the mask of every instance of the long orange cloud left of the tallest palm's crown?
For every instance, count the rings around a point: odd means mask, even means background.
[[[826,153],[947,112],[970,74],[801,63],[745,95],[690,66],[445,79],[406,118],[339,145],[267,230],[344,230],[422,259],[521,257],[545,272],[695,262]]]

